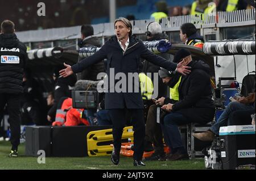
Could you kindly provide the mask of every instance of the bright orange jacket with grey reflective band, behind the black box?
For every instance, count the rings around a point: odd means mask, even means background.
[[[53,126],[77,126],[77,125],[90,125],[89,121],[82,117],[84,109],[76,109],[72,107],[71,98],[61,98],[61,107],[57,109],[55,121]]]

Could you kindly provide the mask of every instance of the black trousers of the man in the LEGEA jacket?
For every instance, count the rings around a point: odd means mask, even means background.
[[[12,150],[17,150],[20,139],[20,95],[0,94],[0,115],[3,115],[5,104],[9,113]]]

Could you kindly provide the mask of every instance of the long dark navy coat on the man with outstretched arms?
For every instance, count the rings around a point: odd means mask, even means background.
[[[112,37],[103,45],[103,47],[90,56],[72,66],[74,73],[81,72],[88,66],[100,62],[104,58],[108,58],[106,73],[110,78],[110,68],[114,68],[114,75],[117,73],[139,73],[139,61],[141,58],[150,61],[152,64],[159,65],[167,70],[174,71],[177,64],[166,61],[164,58],[155,55],[148,50],[143,42],[135,36],[130,36],[129,47],[123,53],[122,48],[118,44],[117,37]],[[109,80],[110,81],[110,80]],[[113,80],[111,80],[113,81]],[[115,81],[115,84],[119,80]],[[126,76],[126,82],[127,76]],[[114,85],[115,85],[114,84]],[[139,85],[139,84],[138,84]],[[133,85],[134,87],[134,82]],[[110,86],[109,86],[110,87]],[[106,92],[105,94],[106,109],[121,109],[121,108],[143,108],[141,92]]]

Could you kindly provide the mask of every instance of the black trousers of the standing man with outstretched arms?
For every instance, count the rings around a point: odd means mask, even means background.
[[[126,124],[127,109],[112,109],[109,110],[109,115],[113,123],[113,145],[116,151],[121,150],[122,133]],[[134,154],[133,158],[141,160],[144,153],[144,137],[145,123],[143,109],[128,109],[131,114],[131,124],[134,128]]]

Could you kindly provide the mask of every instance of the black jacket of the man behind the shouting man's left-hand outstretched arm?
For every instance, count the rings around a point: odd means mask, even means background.
[[[101,47],[101,43],[97,37],[88,36],[82,41],[81,47]],[[101,72],[105,72],[104,60],[82,71],[80,78],[83,80],[97,81],[97,75]]]

